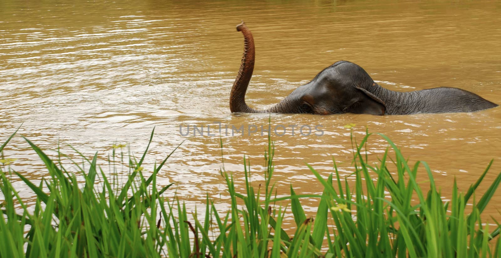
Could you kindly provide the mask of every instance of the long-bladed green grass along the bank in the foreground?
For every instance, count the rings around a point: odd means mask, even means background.
[[[0,146],[0,152],[16,135]],[[28,139],[45,163],[49,177],[34,184],[10,166],[0,166],[0,255],[2,257],[501,257],[500,227],[482,222],[481,213],[497,189],[501,174],[477,200],[474,192],[490,163],[466,193],[454,187],[451,201],[443,202],[439,186],[425,162],[408,164],[398,148],[384,135],[392,152],[385,152],[377,165],[362,151],[371,134],[353,143],[354,186],[334,173],[327,179],[309,167],[324,191],[322,195],[297,195],[292,186],[287,197],[276,198],[274,146],[265,151],[265,184],[256,189],[249,181],[244,159],[245,191],[238,192],[235,174],[221,171],[230,196],[227,212],[216,210],[207,197],[198,219],[182,200],[162,197],[167,186],[157,186],[156,175],[168,156],[144,176],[140,159],[128,158],[129,176],[119,184],[92,159],[74,162],[72,173],[62,165],[61,152],[53,160]],[[151,139],[153,138],[153,132]],[[222,147],[222,143],[221,143]],[[390,153],[391,159],[390,159]],[[169,155],[170,156],[170,155]],[[391,160],[387,166],[387,160]],[[492,163],[492,161],[491,161]],[[114,168],[112,169],[114,170]],[[424,193],[417,174],[427,176]],[[85,182],[78,182],[84,176]],[[241,175],[238,175],[241,177]],[[14,189],[22,180],[37,195],[29,207]],[[421,183],[422,184],[422,183]],[[101,189],[101,190],[98,190]],[[386,196],[386,197],[385,197]],[[390,197],[388,197],[390,196]],[[301,201],[320,198],[317,213],[307,217]],[[287,204],[285,207],[279,204]],[[241,206],[237,206],[237,204]],[[472,204],[466,208],[467,204]],[[238,207],[242,207],[239,209]],[[33,210],[34,211],[31,211]],[[285,216],[296,224],[292,235],[284,228]],[[333,230],[333,228],[336,230]]]

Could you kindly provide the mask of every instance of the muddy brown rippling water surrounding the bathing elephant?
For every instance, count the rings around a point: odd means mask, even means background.
[[[227,202],[219,176],[224,167],[243,182],[243,155],[253,180],[263,180],[267,114],[231,114],[228,98],[240,65],[244,20],[256,42],[256,69],[247,103],[265,108],[308,82],[338,60],[364,67],[381,86],[398,91],[459,87],[501,104],[501,2],[117,1],[61,4],[59,1],[0,2],[0,139],[23,123],[20,132],[39,146],[58,143],[89,157],[115,143],[140,153],[154,126],[145,170],[184,140],[170,158],[160,185],[176,183],[178,196],[201,203],[208,193]],[[298,194],[321,193],[305,166],[323,175],[333,158],[352,171],[350,130],[360,141],[370,132],[389,136],[411,162],[428,162],[445,199],[454,178],[465,191],[491,159],[494,164],[479,194],[501,171],[501,108],[473,113],[374,116],[272,114],[278,194],[292,184]],[[221,137],[216,127],[222,125]],[[295,124],[293,135],[281,125]],[[192,126],[205,126],[203,136]],[[210,125],[208,136],[206,126]],[[231,126],[256,125],[258,132],[231,135]],[[303,134],[298,134],[304,125]],[[315,126],[323,132],[315,131]],[[182,131],[180,132],[180,126]],[[186,134],[186,127],[191,133]],[[229,126],[226,135],[225,126]],[[252,127],[252,129],[255,129]],[[372,136],[370,157],[387,144]],[[5,155],[28,178],[46,175],[20,138]],[[64,147],[63,149],[69,150]],[[422,170],[421,173],[424,173]],[[425,180],[423,175],[422,180]],[[20,189],[26,189],[18,184]],[[173,196],[173,191],[167,194]],[[25,197],[29,191],[23,190]],[[317,200],[303,200],[314,214]],[[501,219],[501,192],[486,211]]]

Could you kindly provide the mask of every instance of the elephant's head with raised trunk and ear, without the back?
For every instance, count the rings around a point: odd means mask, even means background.
[[[309,83],[299,86],[275,106],[257,110],[245,103],[245,92],[255,61],[254,39],[242,22],[236,26],[244,37],[243,58],[229,97],[231,112],[245,113],[368,113],[382,115],[385,103],[367,89],[376,84],[360,66],[338,61],[321,71]]]

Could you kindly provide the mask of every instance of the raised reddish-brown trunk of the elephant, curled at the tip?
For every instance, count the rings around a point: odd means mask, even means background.
[[[236,75],[235,82],[229,95],[229,109],[231,112],[262,113],[264,111],[250,108],[245,103],[245,92],[254,71],[255,48],[254,39],[250,30],[243,21],[236,26],[237,31],[241,31],[244,38],[244,50],[240,70]]]

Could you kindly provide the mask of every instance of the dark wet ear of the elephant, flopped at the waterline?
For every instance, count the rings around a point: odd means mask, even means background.
[[[357,94],[355,101],[347,106],[344,111],[355,114],[384,114],[386,106],[380,98],[364,88],[358,86],[355,86],[355,88],[359,90],[360,94]]]

